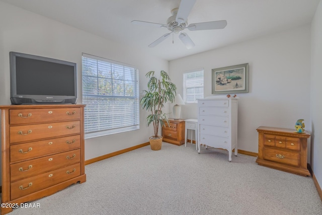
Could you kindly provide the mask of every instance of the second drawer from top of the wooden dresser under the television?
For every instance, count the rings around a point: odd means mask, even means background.
[[[71,135],[81,131],[80,121],[53,122],[10,127],[10,143]]]

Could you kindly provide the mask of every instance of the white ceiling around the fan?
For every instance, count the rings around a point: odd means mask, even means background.
[[[227,20],[220,30],[189,31],[196,44],[186,49],[178,35],[149,48],[166,28],[134,25],[132,20],[167,24],[180,0],[1,0],[166,60],[250,40],[310,23],[320,0],[197,0],[188,24]],[[184,0],[182,0],[184,1]]]

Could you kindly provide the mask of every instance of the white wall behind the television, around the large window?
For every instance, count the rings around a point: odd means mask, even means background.
[[[0,105],[10,104],[10,51],[76,62],[79,104],[82,103],[82,52],[136,65],[140,71],[140,92],[145,88],[147,71],[169,68],[166,60],[0,1]],[[86,139],[85,160],[147,142],[153,130],[146,127],[146,115],[146,111],[140,110],[139,130]]]

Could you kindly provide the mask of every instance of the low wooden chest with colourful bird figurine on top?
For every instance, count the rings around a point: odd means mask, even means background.
[[[258,159],[261,166],[309,176],[307,170],[308,133],[294,129],[260,126],[258,131]]]

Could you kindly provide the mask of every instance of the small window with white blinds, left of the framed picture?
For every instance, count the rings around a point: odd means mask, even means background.
[[[203,99],[203,69],[183,74],[183,97],[185,103],[197,103],[197,99]]]

